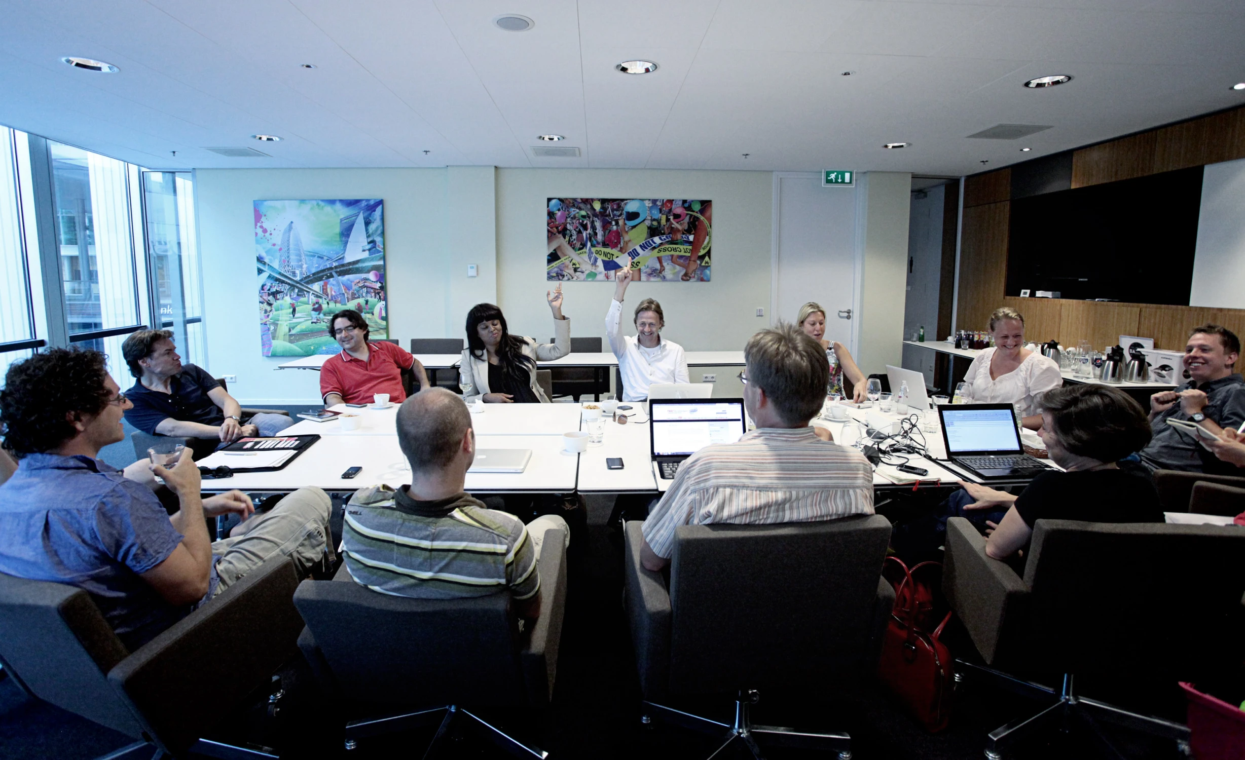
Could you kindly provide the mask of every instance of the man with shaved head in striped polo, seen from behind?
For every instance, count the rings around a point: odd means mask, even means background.
[[[357,491],[346,505],[342,547],[355,582],[374,591],[444,600],[509,591],[523,618],[540,613],[537,566],[545,515],[524,526],[463,490],[476,458],[471,413],[444,388],[427,388],[397,412],[397,440],[411,484]]]

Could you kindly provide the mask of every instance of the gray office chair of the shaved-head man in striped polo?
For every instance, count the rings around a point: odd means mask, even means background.
[[[345,565],[332,581],[304,581],[294,595],[306,621],[299,647],[316,678],[356,715],[346,723],[346,749],[367,736],[439,726],[425,755],[431,756],[459,723],[515,756],[544,758],[547,753],[477,715],[477,708],[549,707],[566,605],[563,542],[561,531],[545,534],[538,566],[540,616],[522,633],[508,593],[387,596],[356,583]]]

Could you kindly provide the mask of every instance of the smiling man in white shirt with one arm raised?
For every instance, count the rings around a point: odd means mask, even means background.
[[[661,304],[652,299],[640,301],[635,307],[637,335],[622,335],[622,297],[635,272],[619,270],[615,276],[614,300],[605,315],[605,335],[610,338],[610,351],[619,359],[622,376],[622,401],[645,401],[652,383],[690,383],[687,356],[679,343],[662,340],[666,326]]]

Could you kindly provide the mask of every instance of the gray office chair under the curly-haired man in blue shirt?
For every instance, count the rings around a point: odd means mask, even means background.
[[[0,573],[0,662],[35,697],[137,740],[110,759],[275,758],[204,733],[295,652],[296,586],[293,562],[265,562],[129,652],[87,592]]]

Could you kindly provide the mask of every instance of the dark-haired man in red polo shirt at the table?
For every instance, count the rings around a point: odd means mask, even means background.
[[[390,401],[402,403],[402,369],[415,369],[421,388],[428,387],[428,376],[415,356],[393,343],[369,343],[367,321],[354,308],[332,315],[329,323],[341,353],[329,357],[320,368],[320,396],[324,405],[372,403],[376,393],[388,393]]]

